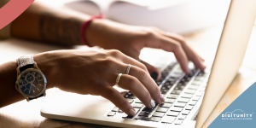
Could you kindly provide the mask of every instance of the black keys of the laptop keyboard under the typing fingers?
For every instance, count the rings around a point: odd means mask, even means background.
[[[145,108],[137,96],[128,92],[125,99],[135,108],[136,115],[128,116],[114,107],[108,113],[108,117],[181,125],[196,102],[203,96],[207,85],[203,81],[207,79],[208,73],[196,69],[191,69],[191,72],[184,74],[177,63],[171,63],[161,73],[160,80],[156,81],[162,96],[166,99],[165,102],[156,104],[154,108]]]

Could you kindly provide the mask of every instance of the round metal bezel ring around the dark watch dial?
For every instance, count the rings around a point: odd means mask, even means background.
[[[20,77],[21,77],[24,73],[29,72],[29,71],[35,71],[35,72],[37,72],[37,73],[40,73],[40,74],[42,75],[43,79],[44,79],[44,88],[43,88],[43,90],[41,90],[41,91],[40,91],[37,95],[35,95],[35,96],[28,96],[28,95],[24,94],[24,93],[20,90],[20,85],[19,85]],[[46,90],[46,84],[47,84],[46,78],[45,78],[45,76],[44,76],[44,73],[41,72],[41,70],[35,69],[35,68],[27,68],[26,70],[22,71],[22,72],[18,75],[17,80],[16,80],[16,83],[15,83],[15,88],[16,88],[16,90],[18,90],[18,91],[20,92],[20,94],[21,94],[22,96],[25,96],[26,98],[36,98],[36,97],[42,95],[42,94],[45,92],[45,90]]]

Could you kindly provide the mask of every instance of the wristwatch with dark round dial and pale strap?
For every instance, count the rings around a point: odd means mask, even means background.
[[[32,55],[25,55],[17,59],[16,90],[29,102],[41,96],[45,96],[46,78],[38,68]]]

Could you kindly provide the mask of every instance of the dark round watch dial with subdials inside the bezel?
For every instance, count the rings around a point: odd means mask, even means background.
[[[30,70],[20,74],[20,90],[27,96],[36,96],[44,90],[44,77],[38,71]]]

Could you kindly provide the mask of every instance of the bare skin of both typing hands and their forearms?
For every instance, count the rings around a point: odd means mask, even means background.
[[[84,44],[81,28],[89,19],[89,15],[69,9],[52,9],[36,2],[14,20],[11,33],[15,38],[48,44]],[[132,65],[131,71],[121,76],[119,86],[131,90],[147,108],[151,108],[151,99],[157,103],[164,101],[149,75],[159,73],[160,79],[160,72],[139,60],[138,56],[144,47],[173,52],[185,73],[189,73],[189,61],[193,61],[195,67],[201,70],[205,68],[204,60],[184,38],[154,27],[92,20],[84,31],[83,36],[90,46],[100,46],[104,50],[57,50],[34,55],[34,61],[48,81],[48,89],[57,87],[84,95],[103,96],[125,113],[132,114],[134,108],[113,89],[116,77],[119,73],[125,73],[127,64]],[[3,79],[0,82],[0,108],[25,99],[15,90],[16,67],[16,61],[0,65],[0,78]]]

